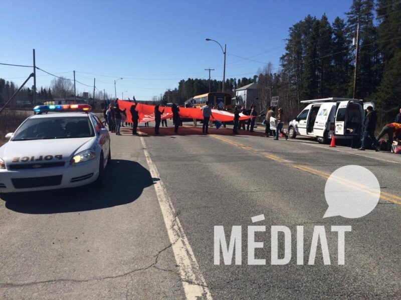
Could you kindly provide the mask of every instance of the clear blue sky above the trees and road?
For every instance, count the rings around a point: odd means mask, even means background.
[[[37,66],[93,85],[150,100],[180,79],[223,77],[223,53],[206,37],[227,43],[227,77],[252,77],[271,61],[279,66],[288,28],[307,14],[330,21],[351,0],[0,0],[0,62]],[[256,55],[258,54],[258,55]],[[253,60],[242,59],[248,57]],[[24,82],[31,68],[0,65],[0,77]],[[37,72],[37,86],[53,79]],[[104,76],[107,75],[107,76]],[[14,78],[19,77],[19,78]],[[24,77],[24,78],[22,78]],[[30,84],[32,85],[32,84]],[[93,88],[77,83],[77,90]]]

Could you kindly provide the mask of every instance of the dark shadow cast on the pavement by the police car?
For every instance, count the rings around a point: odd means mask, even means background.
[[[136,161],[111,160],[106,171],[105,186],[86,185],[48,191],[1,195],[8,209],[22,213],[62,213],[101,209],[135,201],[145,187],[158,178]]]

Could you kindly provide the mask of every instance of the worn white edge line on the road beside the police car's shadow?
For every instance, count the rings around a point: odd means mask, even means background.
[[[178,217],[175,214],[175,209],[167,195],[165,185],[160,178],[159,172],[147,150],[143,136],[140,137],[145,153],[146,161],[149,166],[150,174],[153,178],[159,178],[153,182],[159,201],[161,213],[164,218],[168,237],[171,242],[171,247],[174,253],[175,261],[178,266],[179,275],[181,277],[182,287],[187,299],[208,299],[212,300],[212,294],[206,284],[203,274],[199,270],[196,258],[192,248],[189,245],[185,232],[181,226]]]

